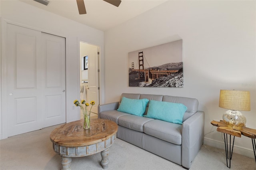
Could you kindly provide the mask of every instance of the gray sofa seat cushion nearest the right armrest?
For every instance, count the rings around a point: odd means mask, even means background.
[[[145,134],[150,136],[181,145],[182,125],[154,119],[145,123],[143,130]]]

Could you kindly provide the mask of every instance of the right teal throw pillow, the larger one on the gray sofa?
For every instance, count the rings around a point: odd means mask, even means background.
[[[182,103],[150,100],[148,113],[144,117],[182,124],[184,113],[188,108]]]

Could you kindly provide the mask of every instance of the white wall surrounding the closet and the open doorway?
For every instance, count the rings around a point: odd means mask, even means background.
[[[73,104],[74,99],[79,99],[80,97],[80,55],[78,42],[82,40],[98,45],[100,49],[104,49],[104,33],[18,0],[0,0],[0,6],[0,16],[2,20],[1,32],[3,32],[3,30],[6,31],[6,23],[11,22],[66,38],[67,121],[70,122],[80,119],[78,107],[74,107]],[[3,39],[1,40],[3,41]],[[2,50],[4,49],[2,48]],[[104,52],[101,53],[101,57],[100,67],[104,68]],[[2,75],[4,76],[4,74]],[[4,79],[4,77],[1,77],[1,82],[2,79]],[[104,77],[102,77],[101,83],[101,86],[104,86]],[[6,92],[1,91],[1,93],[4,96]],[[6,112],[1,109],[0,114],[0,117],[2,117],[2,131],[4,132],[4,128],[7,127],[5,123],[7,121],[4,120],[6,119]],[[3,134],[3,137],[6,137],[5,135],[6,134]]]

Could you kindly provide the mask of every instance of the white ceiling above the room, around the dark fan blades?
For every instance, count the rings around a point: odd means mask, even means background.
[[[48,6],[34,0],[21,0],[32,6],[106,31],[150,10],[167,0],[122,0],[119,7],[103,0],[84,0],[87,14],[79,15],[76,0],[48,0]]]

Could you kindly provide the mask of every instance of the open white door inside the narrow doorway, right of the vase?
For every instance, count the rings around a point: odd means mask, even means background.
[[[88,95],[90,101],[95,101],[92,112],[98,114],[99,105],[99,73],[98,73],[98,47],[91,45],[88,54]],[[88,103],[90,102],[88,101]]]

